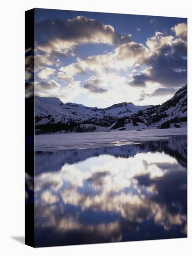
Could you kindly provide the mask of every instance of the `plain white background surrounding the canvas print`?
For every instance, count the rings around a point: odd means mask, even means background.
[[[191,141],[192,13],[189,0],[7,0],[0,7],[0,255],[191,255],[192,150],[188,143],[188,238],[33,249],[24,237],[24,11],[39,7],[188,18],[188,141]]]

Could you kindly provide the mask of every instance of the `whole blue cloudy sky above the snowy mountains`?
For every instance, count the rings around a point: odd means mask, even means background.
[[[29,91],[33,71],[35,94],[64,103],[161,104],[187,83],[187,19],[35,9]]]

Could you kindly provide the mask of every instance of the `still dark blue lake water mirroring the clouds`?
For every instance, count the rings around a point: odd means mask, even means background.
[[[35,245],[187,236],[187,137],[35,153]]]

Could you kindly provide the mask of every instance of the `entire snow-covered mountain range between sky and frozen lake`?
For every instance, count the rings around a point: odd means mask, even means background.
[[[179,128],[186,125],[187,85],[161,105],[136,106],[132,102],[108,108],[63,103],[58,98],[35,96],[35,127],[44,132],[88,132]]]

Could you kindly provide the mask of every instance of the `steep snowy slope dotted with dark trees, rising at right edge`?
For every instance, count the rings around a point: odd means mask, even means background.
[[[182,128],[187,126],[187,85],[162,105],[152,106],[118,119],[111,130]]]

